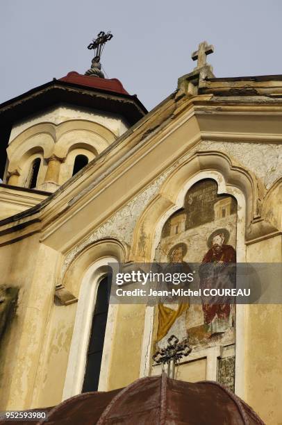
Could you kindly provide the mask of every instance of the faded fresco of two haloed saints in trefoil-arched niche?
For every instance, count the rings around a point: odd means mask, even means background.
[[[217,194],[212,179],[199,181],[188,190],[183,208],[165,222],[155,259],[200,263],[200,287],[218,287],[226,273],[235,276],[236,224],[235,199]],[[233,269],[222,267],[226,263]],[[210,264],[217,269],[216,277],[208,273]],[[164,347],[173,334],[198,348],[235,343],[235,306],[231,303],[210,305],[203,297],[199,304],[159,305],[158,310],[157,347]]]

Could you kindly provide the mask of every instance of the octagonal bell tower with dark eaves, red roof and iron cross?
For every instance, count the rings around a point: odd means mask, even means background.
[[[85,75],[69,72],[0,105],[6,134],[0,218],[36,205],[81,176],[88,163],[147,113],[117,78],[104,78],[101,53],[111,38],[100,31],[88,45],[94,58]]]

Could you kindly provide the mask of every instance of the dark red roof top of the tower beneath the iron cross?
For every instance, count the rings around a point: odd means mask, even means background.
[[[66,83],[73,83],[78,85],[84,85],[85,87],[97,88],[100,90],[106,90],[109,92],[115,92],[120,94],[129,94],[124,90],[122,83],[117,78],[99,78],[96,76],[81,75],[78,72],[69,72],[59,81],[65,81]]]

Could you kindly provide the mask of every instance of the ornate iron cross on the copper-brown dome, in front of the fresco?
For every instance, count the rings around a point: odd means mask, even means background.
[[[163,368],[167,364],[167,376],[170,376],[170,365],[172,363],[172,378],[174,379],[175,365],[184,356],[189,356],[191,351],[192,348],[188,344],[185,344],[185,342],[179,343],[179,339],[172,335],[167,340],[167,347],[157,351],[153,356],[153,360],[157,365],[162,365]]]

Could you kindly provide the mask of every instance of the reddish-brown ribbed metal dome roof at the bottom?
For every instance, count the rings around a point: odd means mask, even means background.
[[[121,390],[79,394],[51,408],[41,424],[264,425],[254,410],[222,385],[176,381],[165,374],[140,378]]]

